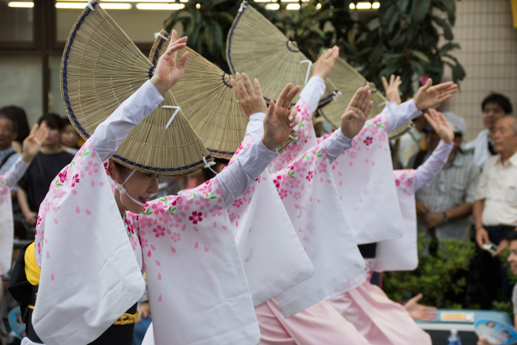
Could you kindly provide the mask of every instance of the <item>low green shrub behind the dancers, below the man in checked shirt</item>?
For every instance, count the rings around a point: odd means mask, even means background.
[[[422,254],[425,248],[430,248],[426,256]],[[464,291],[466,278],[454,280],[453,277],[460,269],[468,271],[475,252],[475,244],[472,242],[447,239],[433,246],[429,239],[419,234],[417,269],[385,273],[383,290],[393,301],[406,301],[421,292],[422,304],[438,308],[461,308],[461,305],[447,299],[446,295]]]

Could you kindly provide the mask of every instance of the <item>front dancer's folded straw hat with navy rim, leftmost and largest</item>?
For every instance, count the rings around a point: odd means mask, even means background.
[[[61,95],[73,126],[85,139],[153,76],[155,67],[97,2],[75,22],[61,63]],[[134,127],[115,161],[144,172],[185,175],[210,158],[176,107],[172,93]],[[175,116],[174,116],[175,114]],[[171,118],[174,116],[173,121]],[[166,125],[170,122],[169,127]]]

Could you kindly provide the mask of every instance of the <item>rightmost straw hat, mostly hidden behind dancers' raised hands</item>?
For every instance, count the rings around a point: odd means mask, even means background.
[[[330,72],[329,78],[336,85],[339,91],[343,94],[338,97],[335,101],[328,104],[325,109],[320,109],[320,112],[326,121],[330,123],[334,128],[338,128],[341,123],[341,115],[343,115],[348,102],[352,99],[355,92],[359,87],[369,85],[372,91],[373,107],[368,118],[373,118],[381,113],[384,108],[387,99],[381,94],[380,91],[375,87],[374,83],[368,82],[361,73],[359,73],[354,67],[350,66],[344,59],[338,57],[334,63],[334,68]],[[402,126],[397,130],[389,133],[390,139],[399,136],[406,130],[407,126]]]

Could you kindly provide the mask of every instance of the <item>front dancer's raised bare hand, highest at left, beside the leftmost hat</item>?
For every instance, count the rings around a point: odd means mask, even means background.
[[[153,78],[151,78],[151,83],[155,85],[162,96],[183,77],[185,66],[187,66],[189,52],[185,52],[181,55],[179,64],[176,66],[178,50],[187,46],[187,37],[181,37],[178,40],[177,37],[178,33],[176,30],[173,30],[169,46],[165,53],[160,56],[155,68],[155,74]]]

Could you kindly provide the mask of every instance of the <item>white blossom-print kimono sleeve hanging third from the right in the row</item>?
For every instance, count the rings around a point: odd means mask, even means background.
[[[272,178],[314,265],[311,278],[277,296],[287,318],[321,301],[360,274],[364,261],[339,202],[325,141]]]

